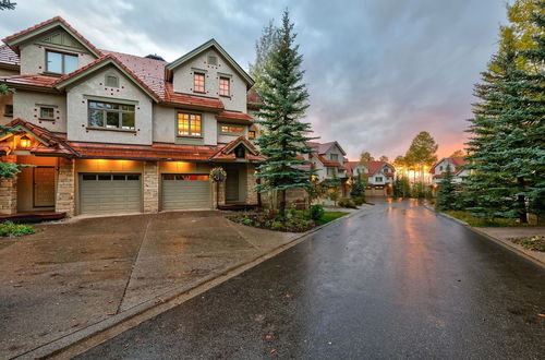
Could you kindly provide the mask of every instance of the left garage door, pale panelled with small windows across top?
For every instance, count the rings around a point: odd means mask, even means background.
[[[142,188],[138,173],[80,175],[82,214],[140,213]]]

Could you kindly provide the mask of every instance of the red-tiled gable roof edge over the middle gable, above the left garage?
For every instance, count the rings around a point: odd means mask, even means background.
[[[133,81],[136,86],[138,86],[144,93],[154,98],[156,101],[159,100],[159,96],[154,92],[153,88],[147,86],[131,69],[125,67],[118,58],[113,55],[109,53],[98,58],[97,60],[82,67],[70,74],[65,74],[55,83],[57,88],[64,88],[65,86],[73,84],[74,82],[80,81],[81,79],[87,76],[88,74],[100,70],[107,65],[113,65],[119,71],[121,71],[126,77]]]

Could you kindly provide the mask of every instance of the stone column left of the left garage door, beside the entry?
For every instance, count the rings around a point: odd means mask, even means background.
[[[57,213],[66,213],[68,217],[75,215],[75,160],[59,158],[57,173],[57,193],[55,201]]]

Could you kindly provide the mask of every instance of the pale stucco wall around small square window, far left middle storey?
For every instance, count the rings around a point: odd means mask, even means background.
[[[55,121],[40,120],[39,108],[52,106]],[[13,118],[21,118],[53,132],[66,132],[66,97],[46,93],[17,91],[13,94]]]

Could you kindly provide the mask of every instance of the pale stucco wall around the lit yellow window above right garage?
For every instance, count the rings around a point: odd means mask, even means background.
[[[211,112],[202,112],[195,110],[184,110],[160,105],[154,105],[154,142],[177,144],[184,143],[184,137],[177,139],[177,113],[186,111],[201,113],[203,121],[203,145],[216,145],[218,143],[217,120]],[[193,139],[187,140],[187,144]]]

